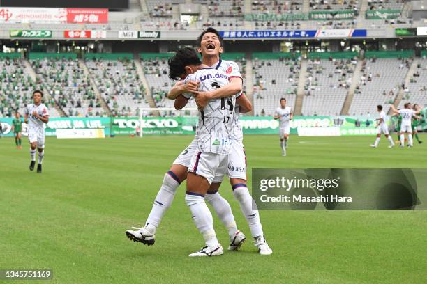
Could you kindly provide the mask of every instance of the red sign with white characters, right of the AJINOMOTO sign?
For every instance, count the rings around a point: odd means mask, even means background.
[[[104,24],[108,22],[108,9],[67,8],[67,23]]]

